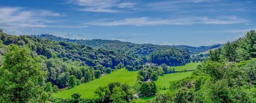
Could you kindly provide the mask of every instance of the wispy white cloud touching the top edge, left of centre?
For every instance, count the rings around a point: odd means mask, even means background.
[[[79,11],[86,12],[121,12],[120,9],[133,7],[133,2],[119,0],[69,0],[68,2],[81,6]]]

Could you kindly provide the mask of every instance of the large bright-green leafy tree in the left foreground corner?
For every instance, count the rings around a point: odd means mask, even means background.
[[[1,102],[44,102],[44,72],[38,58],[27,47],[8,47],[0,69]],[[51,91],[51,90],[49,90]]]

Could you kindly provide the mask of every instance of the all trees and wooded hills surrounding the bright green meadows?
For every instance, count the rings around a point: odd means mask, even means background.
[[[256,102],[255,31],[222,47],[202,47],[212,49],[209,59],[204,59],[191,76],[171,81],[169,92],[164,93],[157,92],[155,81],[175,72],[169,66],[191,62],[190,50],[145,44],[138,48],[146,46],[147,52],[130,47],[129,53],[90,47],[83,40],[52,41],[4,32],[0,32],[0,39],[0,102],[130,102],[134,94],[154,95],[155,99],[148,102]],[[154,65],[146,66],[146,62]],[[138,72],[135,87],[112,82],[98,87],[94,99],[81,99],[80,94],[73,94],[72,99],[51,97],[59,89],[72,88],[122,68]]]

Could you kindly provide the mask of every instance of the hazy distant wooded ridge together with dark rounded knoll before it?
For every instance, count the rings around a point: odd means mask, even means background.
[[[215,49],[221,47],[222,44],[215,44],[212,46],[162,46],[154,44],[134,44],[130,42],[122,41],[111,41],[111,40],[101,40],[101,39],[92,39],[92,40],[76,40],[76,39],[67,39],[63,37],[52,36],[49,34],[41,34],[39,38],[51,39],[52,41],[66,41],[78,44],[84,44],[95,49],[107,49],[117,51],[121,54],[126,54],[126,56],[135,56],[143,62],[153,62],[155,64],[167,64],[168,66],[180,66],[184,65],[187,62],[199,62],[208,58],[208,54],[200,54],[200,52],[208,51],[210,49]],[[164,54],[160,52],[165,52]],[[166,54],[166,53],[169,54]],[[200,54],[194,56],[193,54]],[[157,57],[157,56],[159,57]],[[166,55],[166,57],[161,56]],[[189,57],[191,55],[191,57]],[[154,58],[152,58],[154,57]]]

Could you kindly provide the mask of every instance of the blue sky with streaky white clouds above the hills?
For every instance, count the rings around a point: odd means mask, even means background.
[[[1,0],[0,29],[71,39],[202,46],[256,29],[256,1]]]

